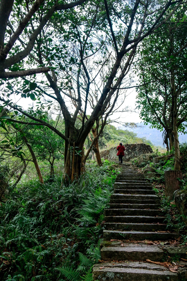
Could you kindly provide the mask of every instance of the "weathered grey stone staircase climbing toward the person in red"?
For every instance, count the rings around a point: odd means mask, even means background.
[[[101,249],[103,263],[93,266],[93,280],[179,280],[177,273],[162,265],[146,262],[146,259],[162,260],[162,247],[133,243],[133,240],[173,240],[179,234],[166,232],[159,197],[144,175],[130,164],[121,165],[121,169],[114,184],[110,208],[105,210]]]

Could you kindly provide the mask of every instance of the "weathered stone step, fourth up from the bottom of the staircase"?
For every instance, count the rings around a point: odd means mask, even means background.
[[[166,224],[146,224],[146,223],[112,223],[105,222],[104,229],[116,230],[141,230],[141,231],[165,231]]]

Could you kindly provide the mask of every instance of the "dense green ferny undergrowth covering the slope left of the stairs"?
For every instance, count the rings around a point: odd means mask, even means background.
[[[17,186],[0,208],[2,281],[92,280],[100,256],[104,209],[117,171],[94,164],[79,181],[61,177]]]

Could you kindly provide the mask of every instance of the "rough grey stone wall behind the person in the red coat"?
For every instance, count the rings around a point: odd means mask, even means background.
[[[124,146],[125,146],[125,156],[123,156],[124,161],[129,161],[130,159],[138,157],[141,154],[153,153],[151,146],[146,145],[144,143],[124,144]],[[118,160],[116,147],[103,150],[100,152],[100,154],[101,154],[101,158],[112,160],[112,161]]]

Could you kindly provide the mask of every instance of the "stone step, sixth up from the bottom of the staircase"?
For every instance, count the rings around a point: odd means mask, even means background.
[[[105,216],[159,216],[160,210],[143,210],[143,209],[105,209]]]

